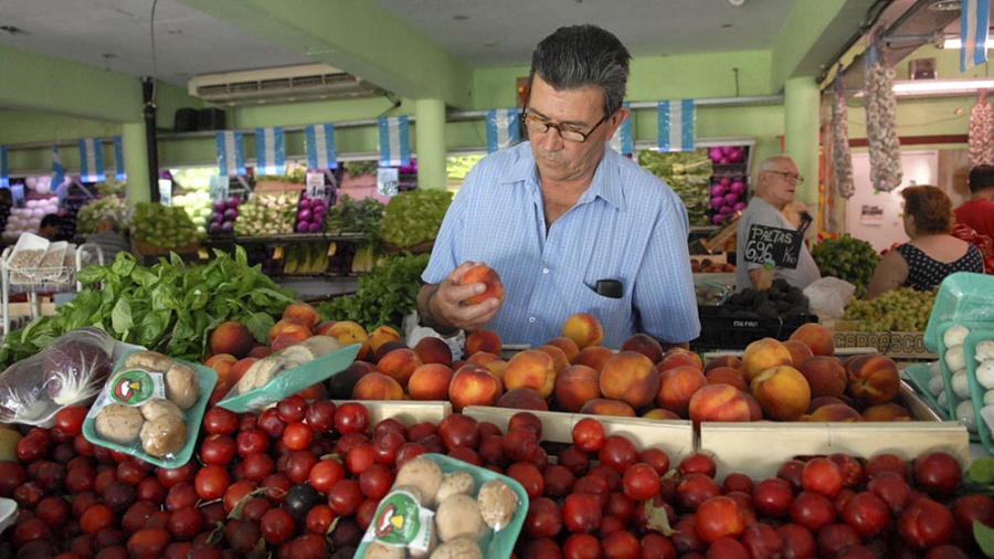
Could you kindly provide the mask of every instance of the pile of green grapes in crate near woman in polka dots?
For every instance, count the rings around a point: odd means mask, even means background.
[[[846,320],[858,320],[857,331],[924,331],[935,303],[934,292],[898,287],[870,300],[853,300]]]

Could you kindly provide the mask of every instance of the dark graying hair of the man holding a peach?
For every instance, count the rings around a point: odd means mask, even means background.
[[[610,31],[596,25],[571,25],[542,39],[531,55],[529,86],[535,75],[557,91],[594,85],[604,92],[604,110],[621,108],[632,55]]]

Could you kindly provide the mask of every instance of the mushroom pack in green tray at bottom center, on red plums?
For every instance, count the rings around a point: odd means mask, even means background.
[[[441,454],[406,462],[357,558],[507,558],[528,513],[515,479]]]

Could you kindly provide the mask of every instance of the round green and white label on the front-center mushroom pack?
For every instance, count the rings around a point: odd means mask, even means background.
[[[427,551],[433,516],[434,513],[423,508],[414,495],[405,491],[395,491],[380,503],[363,539],[376,539],[387,546]]]

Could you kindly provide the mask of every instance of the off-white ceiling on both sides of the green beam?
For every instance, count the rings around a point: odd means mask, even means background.
[[[795,0],[378,1],[469,65],[494,67],[528,65],[541,38],[588,22],[613,31],[635,56],[768,50]],[[315,62],[178,0],[0,4],[0,45],[180,86],[198,74]]]

